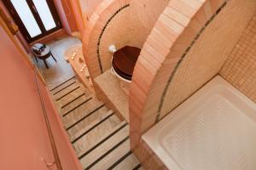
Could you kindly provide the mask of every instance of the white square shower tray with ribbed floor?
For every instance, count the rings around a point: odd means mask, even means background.
[[[218,76],[143,140],[171,170],[255,170],[256,105]]]

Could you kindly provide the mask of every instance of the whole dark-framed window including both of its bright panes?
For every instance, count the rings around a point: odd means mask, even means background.
[[[27,42],[33,42],[61,29],[52,0],[3,1]]]

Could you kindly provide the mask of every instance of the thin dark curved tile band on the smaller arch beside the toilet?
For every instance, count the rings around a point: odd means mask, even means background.
[[[126,4],[124,7],[119,8],[119,9],[109,18],[109,20],[107,21],[107,23],[106,23],[105,26],[103,27],[102,32],[101,32],[101,34],[100,34],[100,36],[99,36],[99,38],[98,38],[98,42],[97,42],[97,51],[96,51],[96,53],[97,53],[97,59],[98,59],[99,65],[100,65],[101,73],[103,73],[102,59],[101,59],[101,54],[100,54],[100,46],[101,46],[102,36],[103,36],[104,32],[106,31],[106,28],[107,28],[108,24],[111,22],[111,20],[113,20],[113,18],[114,18],[117,14],[119,14],[119,12],[121,12],[123,9],[128,8],[128,7],[130,7],[130,4]]]

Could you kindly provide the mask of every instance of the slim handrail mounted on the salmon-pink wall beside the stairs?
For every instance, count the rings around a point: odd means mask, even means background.
[[[43,99],[43,96],[42,96],[42,93],[41,93],[41,90],[40,90],[39,84],[38,84],[38,75],[37,74],[38,74],[38,71],[37,71],[36,66],[34,65],[35,82],[37,84],[38,95],[39,95],[41,106],[42,106],[42,110],[43,110],[43,113],[44,113],[44,121],[46,123],[47,132],[49,134],[49,141],[50,141],[51,149],[52,149],[54,157],[55,157],[55,162],[53,162],[53,163],[46,163],[46,166],[47,167],[52,167],[52,166],[56,165],[57,170],[62,170],[60,156],[58,154],[58,150],[57,150],[56,144],[55,144],[55,139],[54,139],[54,136],[53,136],[50,124],[49,124],[49,119],[48,119],[48,116],[47,116],[47,111],[46,111],[46,108],[45,108],[45,105],[44,105],[44,99]]]

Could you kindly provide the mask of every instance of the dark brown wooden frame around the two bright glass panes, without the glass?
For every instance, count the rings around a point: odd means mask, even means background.
[[[61,30],[61,28],[62,28],[61,20],[60,20],[59,14],[57,13],[57,10],[55,8],[54,1],[46,0],[46,2],[49,6],[49,10],[53,16],[53,19],[55,20],[55,25],[56,25],[55,28],[53,28],[49,31],[46,31],[46,29],[44,28],[43,21],[41,20],[32,0],[26,0],[28,7],[31,9],[32,15],[34,16],[35,20],[37,21],[38,26],[42,32],[41,34],[39,34],[36,37],[31,37],[30,34],[28,33],[28,31],[26,30],[26,26],[23,24],[22,20],[20,19],[19,14],[15,10],[14,5],[11,3],[11,1],[10,0],[3,1],[5,7],[9,10],[9,14],[11,14],[11,16],[12,16],[13,20],[15,20],[15,23],[17,24],[17,26],[19,26],[19,30],[20,30],[21,34],[23,35],[23,37],[26,39],[26,42],[28,42],[28,43],[35,42],[42,37],[48,36],[49,34],[55,32],[55,31]]]

